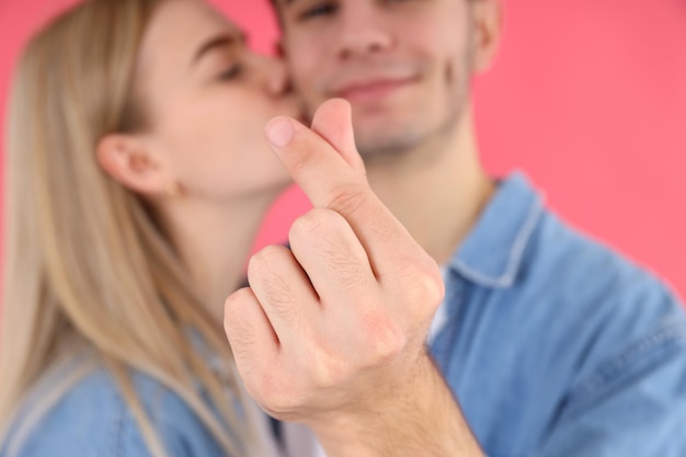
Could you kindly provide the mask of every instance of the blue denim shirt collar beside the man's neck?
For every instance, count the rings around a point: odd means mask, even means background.
[[[544,209],[544,196],[521,172],[502,181],[449,266],[483,287],[510,287]]]

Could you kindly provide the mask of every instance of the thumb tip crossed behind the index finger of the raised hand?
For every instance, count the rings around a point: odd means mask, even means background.
[[[353,170],[364,173],[365,165],[355,146],[350,102],[331,99],[322,103],[312,117],[311,128],[333,146]]]

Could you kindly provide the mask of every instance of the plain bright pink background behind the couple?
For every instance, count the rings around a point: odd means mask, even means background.
[[[0,106],[27,35],[75,0],[0,0]],[[266,0],[215,0],[268,50]],[[508,0],[503,47],[477,81],[488,169],[526,170],[583,231],[686,296],[686,1]],[[4,110],[0,112],[4,125]],[[308,207],[291,190],[258,245]]]

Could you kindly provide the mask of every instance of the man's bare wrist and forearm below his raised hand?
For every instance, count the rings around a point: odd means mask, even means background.
[[[368,404],[310,424],[329,457],[483,455],[431,357],[408,375]]]

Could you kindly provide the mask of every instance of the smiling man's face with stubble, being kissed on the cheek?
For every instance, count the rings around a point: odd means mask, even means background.
[[[473,67],[470,0],[277,5],[284,52],[309,112],[347,99],[363,155],[407,150],[456,128]]]

